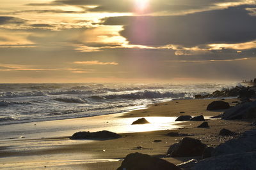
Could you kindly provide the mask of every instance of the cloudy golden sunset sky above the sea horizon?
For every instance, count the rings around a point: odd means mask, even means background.
[[[1,0],[0,83],[256,77],[256,0]]]

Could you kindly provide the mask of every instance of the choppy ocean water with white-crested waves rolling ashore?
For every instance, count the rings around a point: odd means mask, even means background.
[[[0,84],[0,125],[92,117],[193,99],[228,84],[36,83]]]

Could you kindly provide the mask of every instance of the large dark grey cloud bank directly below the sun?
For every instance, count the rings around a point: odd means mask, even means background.
[[[204,11],[184,16],[111,17],[106,25],[125,25],[120,34],[135,45],[243,43],[256,39],[256,17],[246,8]]]

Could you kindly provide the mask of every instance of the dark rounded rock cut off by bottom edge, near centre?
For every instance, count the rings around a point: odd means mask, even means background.
[[[142,153],[130,153],[117,170],[180,170],[179,167],[166,160],[151,157]]]

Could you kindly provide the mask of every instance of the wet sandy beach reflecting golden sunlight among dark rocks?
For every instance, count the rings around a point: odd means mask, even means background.
[[[221,129],[242,133],[252,129],[252,121],[210,118],[223,110],[207,111],[218,99],[174,100],[153,104],[143,110],[87,118],[72,118],[26,124],[2,125],[0,164],[3,169],[116,169],[122,159],[134,152],[164,157],[170,145],[184,137],[166,136],[168,132],[188,134],[202,143],[216,146],[233,137],[218,135]],[[225,99],[231,106],[237,99]],[[204,115],[210,128],[197,128],[202,122],[174,122],[180,115]],[[131,125],[145,117],[151,124]],[[112,131],[122,135],[109,140],[71,140],[78,131]],[[157,142],[155,140],[158,140]],[[140,147],[138,147],[140,146]],[[173,164],[192,159],[164,158]]]

